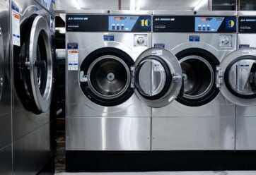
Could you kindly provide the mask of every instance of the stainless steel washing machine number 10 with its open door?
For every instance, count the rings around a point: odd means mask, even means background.
[[[66,171],[151,150],[151,107],[182,85],[178,59],[151,48],[151,12],[66,11],[66,48]]]

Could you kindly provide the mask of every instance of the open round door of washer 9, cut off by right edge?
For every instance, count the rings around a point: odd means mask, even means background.
[[[216,77],[226,99],[240,106],[256,105],[256,49],[239,49],[226,56]]]

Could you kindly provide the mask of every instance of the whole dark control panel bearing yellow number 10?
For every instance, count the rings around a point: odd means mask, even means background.
[[[66,15],[66,31],[151,32],[151,16]]]

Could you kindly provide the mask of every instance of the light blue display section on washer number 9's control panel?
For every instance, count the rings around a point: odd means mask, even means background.
[[[195,17],[195,32],[217,32],[225,17]]]

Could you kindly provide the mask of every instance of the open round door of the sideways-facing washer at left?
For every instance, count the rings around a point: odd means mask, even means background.
[[[52,47],[50,27],[42,16],[23,22],[17,91],[23,104],[35,114],[46,112],[52,99]],[[17,75],[15,75],[14,78]],[[18,87],[17,87],[18,86]],[[23,99],[24,98],[24,99]]]

